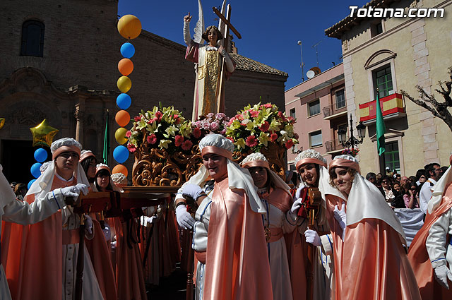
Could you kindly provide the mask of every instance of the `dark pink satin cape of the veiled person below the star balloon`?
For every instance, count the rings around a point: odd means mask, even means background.
[[[52,191],[73,184],[76,184],[76,179],[66,182],[54,176]],[[35,195],[29,195],[25,200],[33,203]],[[11,228],[18,229],[17,226],[20,226],[23,229],[20,230],[21,235],[11,235],[8,241],[10,249],[15,249],[8,251],[6,260],[10,260],[11,256],[12,263],[11,265],[8,263],[5,269],[13,300],[61,299],[63,282],[61,222],[61,212],[57,212],[36,224],[27,226],[11,224]],[[49,275],[49,270],[52,270],[52,275]]]

